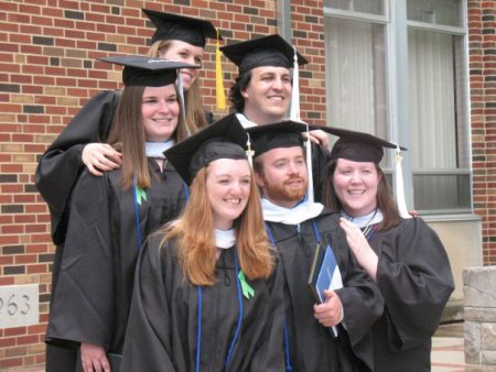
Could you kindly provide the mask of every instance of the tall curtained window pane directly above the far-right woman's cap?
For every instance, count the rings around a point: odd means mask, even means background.
[[[327,123],[388,138],[385,26],[325,20]]]

